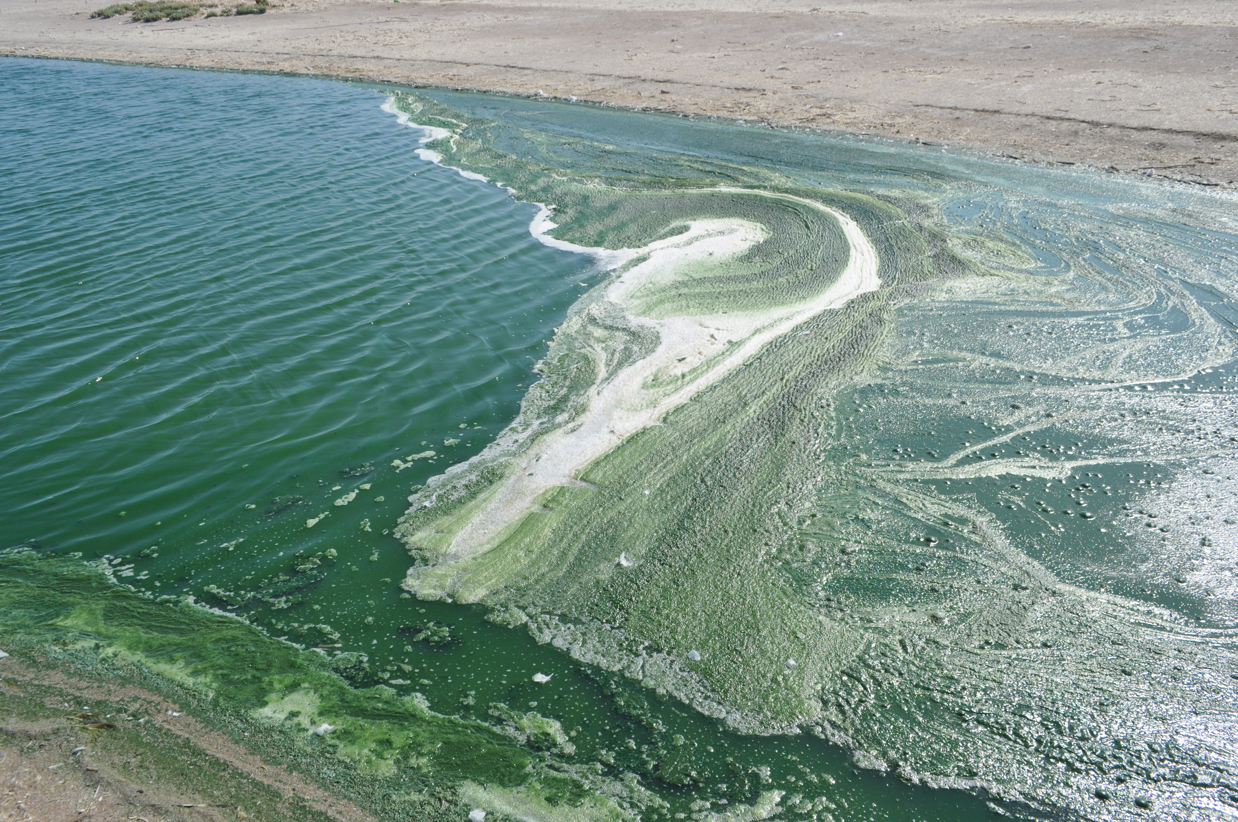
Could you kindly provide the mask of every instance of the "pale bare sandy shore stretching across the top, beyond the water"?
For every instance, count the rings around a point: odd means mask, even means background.
[[[541,92],[1238,183],[1232,0],[275,1],[136,24],[6,0],[0,54]]]

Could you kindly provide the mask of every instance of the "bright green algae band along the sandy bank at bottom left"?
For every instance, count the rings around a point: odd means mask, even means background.
[[[72,557],[0,555],[0,609],[10,651],[176,699],[381,818],[461,820],[482,807],[517,818],[619,820],[661,805],[634,784],[536,753],[548,746],[539,739],[553,737],[552,720],[520,716],[505,734],[430,711],[416,694],[354,687],[342,675],[353,673],[349,664],[364,667],[357,654],[328,659],[181,598],[156,602]]]

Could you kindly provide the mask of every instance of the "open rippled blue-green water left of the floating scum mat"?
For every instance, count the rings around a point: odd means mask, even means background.
[[[469,691],[483,718],[494,702],[548,702],[594,750],[680,733],[744,769],[773,766],[780,784],[802,781],[805,763],[833,771],[842,807],[872,797],[952,818],[974,805],[862,777],[816,740],[719,732],[665,701],[650,706],[664,728],[652,734],[615,703],[631,692],[621,677],[480,612],[400,599],[392,579],[409,561],[384,532],[405,498],[510,422],[551,329],[598,279],[589,257],[530,235],[535,207],[417,158],[417,135],[373,89],[32,61],[0,71],[0,453],[24,478],[0,490],[9,546],[125,556],[137,567],[120,582],[197,594],[295,641],[306,636],[292,623],[331,625],[375,672],[411,665],[391,678],[446,713],[468,712]],[[430,449],[439,456],[390,464]],[[337,562],[300,579],[291,607],[204,593],[258,588],[327,550]],[[432,620],[458,641],[413,642],[410,626]],[[553,685],[534,685],[539,671]],[[647,699],[638,688],[625,701]],[[740,780],[739,800],[761,786]]]

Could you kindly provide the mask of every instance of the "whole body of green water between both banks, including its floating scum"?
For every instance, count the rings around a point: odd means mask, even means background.
[[[10,556],[243,615],[576,780],[462,789],[488,818],[1234,812],[1232,199],[541,100],[0,72]],[[418,157],[389,97],[493,182]],[[532,203],[630,254],[547,246]],[[879,285],[805,308],[865,243]],[[635,406],[660,425],[583,482],[522,479]],[[361,722],[281,687],[281,733]]]

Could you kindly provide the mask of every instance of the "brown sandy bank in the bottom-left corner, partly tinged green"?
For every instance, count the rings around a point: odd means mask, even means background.
[[[5,822],[373,822],[131,685],[0,660]]]

